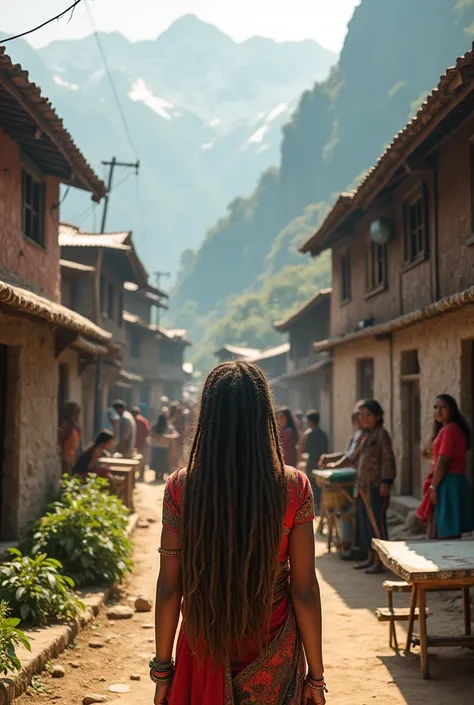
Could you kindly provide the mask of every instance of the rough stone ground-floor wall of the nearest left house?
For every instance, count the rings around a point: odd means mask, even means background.
[[[0,343],[8,346],[1,536],[12,540],[41,515],[60,481],[58,364],[44,323],[0,313]]]

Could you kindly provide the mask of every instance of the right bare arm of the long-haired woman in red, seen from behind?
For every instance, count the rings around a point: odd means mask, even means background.
[[[291,598],[308,661],[309,675],[324,673],[322,653],[321,597],[314,567],[313,523],[294,526],[289,544]]]

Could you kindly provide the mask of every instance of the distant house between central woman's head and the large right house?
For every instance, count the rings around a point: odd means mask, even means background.
[[[286,390],[287,403],[303,413],[316,409],[321,427],[331,437],[332,430],[332,369],[327,353],[317,353],[313,343],[325,340],[329,334],[331,289],[318,291],[284,321],[275,323],[279,333],[289,335],[287,367],[274,380],[277,395]]]

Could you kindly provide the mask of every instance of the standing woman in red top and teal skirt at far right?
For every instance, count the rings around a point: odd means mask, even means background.
[[[429,539],[459,539],[474,531],[466,455],[471,432],[456,400],[440,394],[434,401],[432,469],[423,486],[417,517],[428,526]]]

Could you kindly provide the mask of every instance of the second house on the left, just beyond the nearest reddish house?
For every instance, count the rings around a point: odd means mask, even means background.
[[[90,440],[101,425],[101,412],[114,396],[112,390],[121,384],[126,387],[131,381],[123,367],[127,347],[124,284],[147,286],[148,275],[130,231],[86,233],[75,225],[62,223],[59,245],[63,303],[100,325],[113,338],[106,350],[91,350],[87,358],[82,350],[82,363],[76,351],[67,350],[60,358],[60,364],[68,371],[69,388],[76,392],[75,398],[71,394],[69,398],[81,404],[85,437]]]

